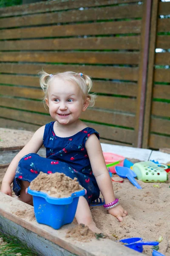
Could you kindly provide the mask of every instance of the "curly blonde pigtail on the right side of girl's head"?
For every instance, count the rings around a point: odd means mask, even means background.
[[[82,73],[80,73],[80,74],[82,74]],[[91,89],[93,87],[93,81],[90,76],[87,76],[85,74],[82,74],[82,76],[80,76],[80,77],[81,77],[81,79],[83,79],[85,81],[85,84],[87,86],[87,99],[89,102],[89,107],[93,107],[95,104],[96,97],[97,97],[96,93],[90,93]]]

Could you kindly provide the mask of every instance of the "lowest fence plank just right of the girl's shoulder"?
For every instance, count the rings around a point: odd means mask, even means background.
[[[123,143],[134,142],[134,130],[94,124],[90,122],[85,122],[85,124],[98,131],[102,139],[115,140]]]

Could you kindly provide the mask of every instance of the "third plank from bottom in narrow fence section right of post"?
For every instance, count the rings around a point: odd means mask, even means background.
[[[167,102],[152,102],[151,114],[154,116],[170,116],[170,103]]]

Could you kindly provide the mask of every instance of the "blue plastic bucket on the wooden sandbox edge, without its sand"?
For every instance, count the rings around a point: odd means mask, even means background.
[[[29,187],[28,193],[33,196],[37,222],[59,229],[73,221],[79,196],[85,195],[85,190],[74,192],[68,198],[54,198],[44,192],[31,190]]]

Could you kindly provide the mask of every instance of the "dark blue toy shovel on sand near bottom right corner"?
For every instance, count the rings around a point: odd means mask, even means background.
[[[124,243],[125,246],[142,253],[143,246],[142,245],[158,245],[157,241],[142,241],[141,237],[131,237],[127,239],[122,239],[120,242]]]

